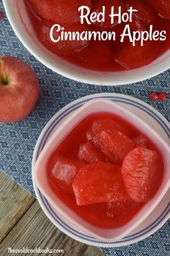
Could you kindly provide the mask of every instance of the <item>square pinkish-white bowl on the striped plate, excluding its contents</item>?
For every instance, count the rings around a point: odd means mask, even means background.
[[[68,135],[68,133],[79,124],[79,122],[84,119],[84,117],[88,116],[89,114],[97,113],[97,112],[112,112],[117,114],[118,116],[122,117],[123,119],[129,121],[133,124],[134,127],[137,127],[143,134],[148,136],[152,141],[155,142],[155,145],[161,151],[162,157],[164,158],[164,177],[161,182],[161,187],[156,192],[156,195],[146,203],[146,205],[141,208],[141,210],[134,216],[134,218],[125,224],[122,227],[115,228],[115,229],[101,229],[93,226],[79,216],[76,215],[67,205],[65,205],[57,195],[53,192],[53,189],[50,188],[48,184],[48,180],[46,177],[46,169],[45,166],[50,158],[50,155],[53,153],[55,148],[61,143],[64,137]],[[148,215],[156,208],[158,202],[166,194],[167,190],[170,187],[170,148],[169,145],[164,142],[164,140],[154,132],[153,128],[149,127],[143,120],[139,119],[138,116],[131,114],[125,108],[117,105],[116,103],[112,103],[112,101],[103,100],[103,99],[96,99],[89,101],[84,106],[79,108],[78,111],[71,114],[71,116],[66,119],[66,121],[61,124],[61,127],[58,127],[50,140],[48,140],[45,148],[43,148],[42,152],[40,153],[37,162],[35,163],[35,167],[33,169],[33,179],[35,184],[37,185],[40,192],[47,198],[48,202],[50,202],[53,207],[64,216],[68,221],[73,223],[78,229],[84,230],[86,234],[89,234],[99,240],[104,242],[114,242],[118,239],[122,239],[123,237],[127,236],[133,229],[135,229],[142,221],[144,221]]]

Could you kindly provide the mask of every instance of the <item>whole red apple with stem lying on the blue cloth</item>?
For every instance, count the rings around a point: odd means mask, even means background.
[[[0,121],[21,121],[27,117],[40,93],[35,72],[21,59],[0,56]]]

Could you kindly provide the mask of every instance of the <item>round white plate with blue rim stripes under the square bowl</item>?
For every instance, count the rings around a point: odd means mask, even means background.
[[[156,132],[161,135],[161,137],[167,141],[169,141],[170,137],[170,127],[168,121],[164,119],[161,114],[155,111],[151,106],[148,106],[146,103],[138,101],[135,98],[131,98],[126,95],[117,95],[112,93],[105,93],[99,95],[91,95],[85,98],[81,98],[78,101],[74,101],[71,104],[68,104],[65,108],[59,111],[53,118],[48,122],[45,128],[40,135],[39,140],[37,141],[37,145],[35,148],[34,157],[32,160],[32,166],[35,165],[35,161],[37,160],[42,148],[49,140],[55,129],[63,122],[64,119],[67,118],[70,114],[73,113],[76,109],[82,106],[84,103],[91,100],[91,98],[109,98],[112,101],[117,102],[121,106],[128,108],[134,114],[138,114],[140,118],[145,119],[148,124],[154,127]],[[34,184],[35,185],[35,184]],[[37,189],[35,186],[35,192],[37,195],[37,199],[40,202],[42,209],[45,211],[46,215],[50,220],[58,226],[64,233],[68,234],[69,236],[73,237],[76,240],[84,242],[86,244],[93,244],[96,246],[104,246],[104,247],[116,247],[122,246],[125,244],[132,244],[133,242],[140,241],[141,239],[145,238],[146,236],[152,234],[156,231],[162,224],[169,218],[169,197],[166,193],[163,200],[159,203],[158,207],[151,213],[151,216],[148,216],[146,221],[140,224],[137,229],[135,229],[131,234],[127,237],[120,239],[120,241],[116,242],[100,242],[94,237],[91,237],[84,233],[84,231],[77,230],[72,223],[68,222],[60,213],[58,213],[52,205],[45,199],[42,193]]]

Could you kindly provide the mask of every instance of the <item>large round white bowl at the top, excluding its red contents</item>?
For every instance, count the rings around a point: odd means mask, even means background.
[[[30,53],[52,69],[65,77],[93,85],[125,85],[153,77],[170,68],[170,50],[146,67],[122,72],[94,72],[77,67],[52,54],[37,40],[23,0],[3,0],[7,17],[19,40]]]

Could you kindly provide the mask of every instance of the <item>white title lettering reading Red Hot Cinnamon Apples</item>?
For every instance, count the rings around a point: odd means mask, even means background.
[[[80,21],[91,25],[94,22],[104,22],[106,17],[106,7],[102,7],[102,12],[91,12],[89,7],[79,7]],[[123,43],[126,38],[130,43],[135,46],[135,43],[140,41],[140,45],[143,46],[147,40],[166,40],[166,30],[153,30],[153,25],[150,25],[149,30],[131,31],[130,22],[133,22],[133,15],[138,12],[137,9],[130,7],[127,12],[122,12],[119,7],[118,12],[115,12],[115,8],[110,9],[110,24],[117,25],[122,22],[127,23],[121,35],[117,35],[115,31],[65,31],[65,27],[54,24],[50,29],[50,39],[53,43],[58,43],[60,40],[117,40],[120,37],[120,42]],[[116,20],[116,21],[115,21]]]

